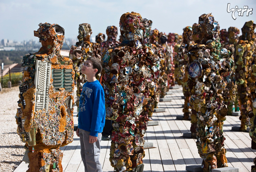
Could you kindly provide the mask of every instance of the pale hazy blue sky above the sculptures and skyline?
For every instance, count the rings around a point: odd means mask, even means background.
[[[252,14],[238,16],[232,8],[253,9]],[[256,0],[0,0],[0,40],[38,40],[33,31],[39,23],[59,24],[65,29],[66,38],[77,39],[78,26],[89,23],[91,38],[98,33],[106,35],[108,26],[117,26],[126,12],[140,13],[142,18],[152,20],[152,29],[182,35],[183,28],[198,23],[202,14],[212,13],[221,29],[237,27],[241,31],[244,23],[256,23]],[[118,37],[119,38],[119,37]]]

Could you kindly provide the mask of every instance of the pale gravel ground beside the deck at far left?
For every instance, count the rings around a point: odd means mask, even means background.
[[[15,115],[19,108],[19,87],[3,88],[0,92],[0,171],[12,172],[21,163],[25,143],[17,134]]]

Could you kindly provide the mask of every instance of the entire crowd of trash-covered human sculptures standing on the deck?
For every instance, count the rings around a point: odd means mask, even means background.
[[[174,81],[183,88],[183,119],[191,120],[204,172],[228,166],[222,128],[233,105],[241,110],[240,130],[250,124],[252,148],[256,148],[253,21],[245,23],[240,37],[236,27],[220,31],[211,13],[185,27],[182,36],[166,35],[151,26],[152,21],[139,13],[124,13],[120,42],[117,27],[109,26],[107,40],[100,33],[93,43],[90,24],[80,24],[78,42],[67,58],[60,55],[64,29],[58,24],[39,24],[34,34],[42,47],[23,58],[16,115],[17,132],[26,142],[28,172],[62,172],[59,147],[72,142],[73,107],[79,106],[87,81],[82,63],[92,56],[102,60],[97,79],[105,91],[106,119],[113,120],[109,160],[115,171],[141,169],[147,122]]]

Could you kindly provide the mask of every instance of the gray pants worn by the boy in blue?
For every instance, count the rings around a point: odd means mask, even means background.
[[[90,132],[79,129],[81,156],[85,172],[102,172],[100,164],[100,141],[101,133],[95,143],[89,143]]]

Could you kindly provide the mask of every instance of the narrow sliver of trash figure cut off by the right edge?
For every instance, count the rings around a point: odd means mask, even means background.
[[[252,55],[252,58],[254,59],[254,63],[252,64],[252,70],[250,73],[250,77],[252,81],[254,82],[254,90],[251,89],[250,96],[252,99],[252,111],[248,112],[248,117],[250,118],[250,130],[249,130],[249,135],[252,138],[252,144],[251,148],[256,150],[256,88],[255,88],[255,83],[256,83],[256,52],[254,51],[254,54]],[[253,160],[254,165],[251,167],[251,172],[256,171],[256,157]]]

